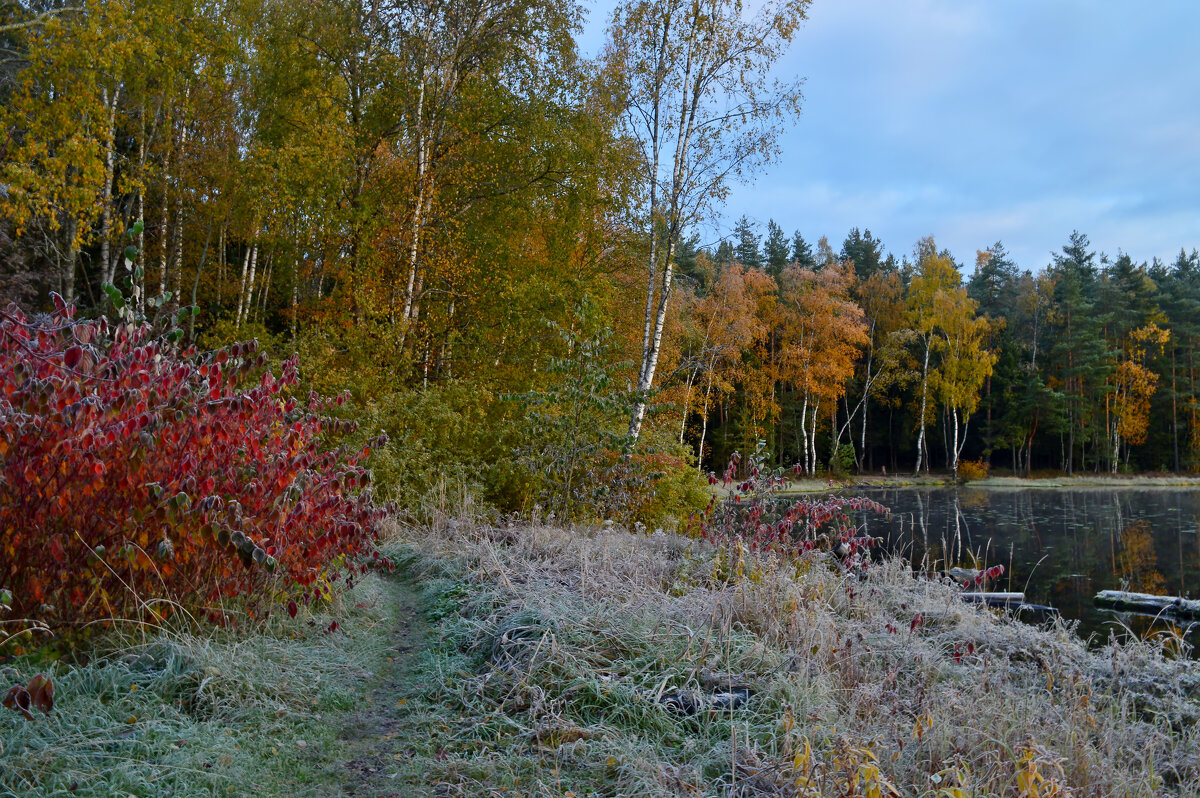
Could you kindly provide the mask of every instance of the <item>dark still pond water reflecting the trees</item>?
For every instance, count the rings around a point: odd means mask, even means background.
[[[1098,590],[1200,596],[1200,491],[1178,488],[872,488],[892,510],[862,518],[914,568],[1003,564],[992,590],[1056,607],[1084,637],[1151,631],[1150,619],[1100,610]],[[1184,624],[1188,622],[1183,622]],[[1160,626],[1159,626],[1160,628]],[[1200,624],[1188,632],[1200,647]]]

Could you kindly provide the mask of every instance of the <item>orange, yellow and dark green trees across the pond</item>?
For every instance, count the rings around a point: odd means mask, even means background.
[[[715,450],[757,437],[842,473],[1200,467],[1196,250],[1139,264],[1074,232],[1037,271],[1002,242],[966,268],[932,238],[898,260],[870,230],[835,251],[743,217],[684,252],[689,430],[719,424]]]

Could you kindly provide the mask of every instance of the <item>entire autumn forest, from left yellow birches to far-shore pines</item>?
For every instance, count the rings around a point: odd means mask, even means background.
[[[652,516],[760,440],[810,474],[1200,468],[1195,251],[700,246],[799,107],[770,70],[806,5],[631,0],[584,59],[548,0],[7,4],[0,296],[299,352],[409,505],[653,482]]]

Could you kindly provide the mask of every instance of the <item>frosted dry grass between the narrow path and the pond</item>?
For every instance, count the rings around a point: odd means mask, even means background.
[[[394,538],[440,607],[445,731],[413,763],[439,794],[1200,794],[1200,664],[1178,640],[1088,650],[901,562],[857,580],[673,535],[445,520]],[[664,703],[720,684],[752,697]]]

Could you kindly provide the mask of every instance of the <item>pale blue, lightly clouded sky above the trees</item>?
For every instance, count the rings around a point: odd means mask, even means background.
[[[614,2],[583,1],[594,55]],[[1174,260],[1200,247],[1198,35],[1196,0],[814,0],[775,70],[803,112],[702,236],[743,214],[896,257],[934,235],[970,274],[996,241],[1037,271],[1079,230]]]

